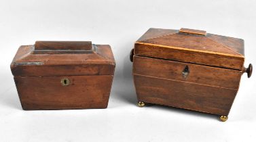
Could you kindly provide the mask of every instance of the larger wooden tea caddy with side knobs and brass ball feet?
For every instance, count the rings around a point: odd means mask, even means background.
[[[244,72],[244,41],[203,30],[150,28],[130,53],[138,105],[217,114],[232,107]]]

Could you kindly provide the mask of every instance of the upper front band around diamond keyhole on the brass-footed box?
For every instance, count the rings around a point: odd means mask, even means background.
[[[184,78],[182,72],[186,66],[189,68],[189,75]],[[198,85],[238,89],[242,71],[135,55],[133,73],[193,82]]]

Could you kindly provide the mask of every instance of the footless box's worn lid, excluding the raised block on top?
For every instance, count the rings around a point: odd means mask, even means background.
[[[94,53],[33,54],[33,45],[21,46],[11,64],[14,76],[107,75],[115,60],[109,45],[96,45]]]

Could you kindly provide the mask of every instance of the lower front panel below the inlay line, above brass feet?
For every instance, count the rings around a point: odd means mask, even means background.
[[[237,89],[134,74],[138,101],[227,116]]]

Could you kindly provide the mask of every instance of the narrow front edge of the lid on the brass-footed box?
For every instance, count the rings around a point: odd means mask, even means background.
[[[151,45],[145,43],[135,43],[134,54],[235,70],[242,70],[244,64],[244,57],[198,52],[180,48],[175,49],[163,45]]]

